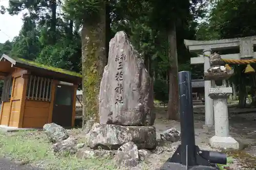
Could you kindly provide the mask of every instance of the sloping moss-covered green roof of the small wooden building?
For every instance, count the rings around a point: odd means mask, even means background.
[[[43,68],[43,69],[47,69],[47,70],[50,70],[50,71],[60,72],[62,74],[66,74],[66,75],[70,75],[70,76],[76,76],[76,77],[80,77],[80,78],[82,77],[82,75],[79,74],[78,72],[69,71],[69,70],[66,70],[66,69],[41,64],[41,63],[38,63],[38,62],[35,62],[35,61],[26,60],[26,59],[23,59],[23,58],[18,58],[18,57],[11,57],[11,58],[13,60],[15,60],[17,63],[30,65],[30,66],[34,66],[34,67],[37,67],[37,68]]]

